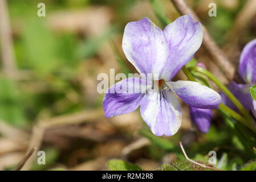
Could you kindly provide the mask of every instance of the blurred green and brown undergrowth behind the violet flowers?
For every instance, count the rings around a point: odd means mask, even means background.
[[[11,170],[31,147],[37,152],[26,170],[104,170],[109,159],[124,159],[143,169],[184,159],[182,141],[191,158],[230,156],[229,165],[250,158],[218,114],[208,134],[190,122],[182,104],[182,126],[173,137],[155,137],[139,111],[106,119],[104,94],[97,93],[99,73],[135,73],[121,49],[124,27],[147,16],[157,26],[148,0],[0,0],[0,169]],[[37,15],[38,3],[46,16]],[[162,0],[166,16],[180,16],[172,2]],[[202,24],[237,68],[243,46],[256,36],[255,1],[188,0]],[[209,17],[209,3],[217,16]],[[161,27],[163,28],[163,27]],[[222,81],[220,70],[204,48],[196,58]],[[185,80],[182,73],[177,77]]]

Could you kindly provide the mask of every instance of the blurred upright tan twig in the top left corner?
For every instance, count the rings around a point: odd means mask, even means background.
[[[16,65],[13,52],[13,38],[9,21],[6,0],[0,1],[0,41],[3,70],[9,77],[15,77]]]

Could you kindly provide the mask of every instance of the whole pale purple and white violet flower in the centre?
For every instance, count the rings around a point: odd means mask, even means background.
[[[128,23],[123,51],[142,78],[119,81],[108,90],[103,100],[105,117],[130,113],[140,106],[141,117],[152,133],[170,136],[181,125],[181,109],[174,93],[190,106],[217,108],[221,97],[214,90],[198,82],[171,81],[201,46],[202,36],[201,23],[194,23],[190,15],[176,19],[164,31],[148,18]],[[145,77],[149,73],[154,75],[152,79]]]

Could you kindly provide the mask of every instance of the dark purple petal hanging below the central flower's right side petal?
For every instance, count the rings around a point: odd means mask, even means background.
[[[197,129],[202,133],[208,133],[213,119],[212,110],[189,106],[189,113]]]

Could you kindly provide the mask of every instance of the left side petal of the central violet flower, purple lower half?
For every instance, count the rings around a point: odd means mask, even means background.
[[[147,82],[141,78],[128,78],[113,85],[103,100],[105,117],[127,114],[140,106],[147,90]]]

